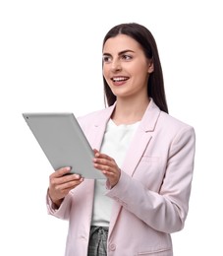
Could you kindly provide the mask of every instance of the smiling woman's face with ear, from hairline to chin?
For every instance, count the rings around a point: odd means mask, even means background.
[[[103,47],[103,76],[118,97],[147,96],[147,80],[153,72],[138,41],[126,34],[107,39]]]

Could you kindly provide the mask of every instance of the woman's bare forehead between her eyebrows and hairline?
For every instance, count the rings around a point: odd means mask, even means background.
[[[141,46],[137,40],[126,34],[118,34],[106,40],[103,53],[116,53],[125,50],[139,51]]]

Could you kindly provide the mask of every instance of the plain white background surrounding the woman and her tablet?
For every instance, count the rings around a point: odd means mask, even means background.
[[[48,216],[45,206],[53,170],[22,112],[82,115],[104,107],[102,39],[123,22],[153,33],[170,114],[195,127],[190,212],[185,228],[173,234],[175,256],[220,255],[220,0],[0,2],[0,255],[63,255],[67,222]]]

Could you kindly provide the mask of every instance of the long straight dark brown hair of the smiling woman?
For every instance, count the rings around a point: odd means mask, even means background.
[[[152,33],[137,23],[120,24],[113,27],[109,32],[106,33],[103,39],[103,46],[107,39],[114,37],[117,34],[126,34],[137,40],[142,47],[146,58],[152,60],[154,71],[150,74],[148,79],[147,96],[152,97],[158,107],[162,111],[168,113],[162,67],[159,60],[156,42]],[[105,100],[110,106],[116,101],[116,96],[113,95],[104,77],[103,82]]]

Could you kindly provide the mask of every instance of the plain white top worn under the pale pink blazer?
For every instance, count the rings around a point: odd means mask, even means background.
[[[128,125],[116,125],[110,119],[100,152],[116,160],[116,163],[121,167],[138,126],[139,122]],[[95,180],[91,225],[108,226],[110,223],[112,199],[105,196],[105,182],[106,179]]]

